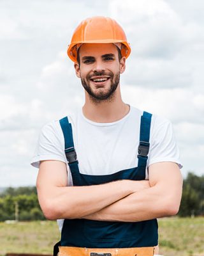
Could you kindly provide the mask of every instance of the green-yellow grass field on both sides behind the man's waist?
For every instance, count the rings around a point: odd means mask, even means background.
[[[159,220],[160,254],[204,256],[204,218]],[[60,234],[55,221],[0,223],[0,255],[15,253],[52,254]]]

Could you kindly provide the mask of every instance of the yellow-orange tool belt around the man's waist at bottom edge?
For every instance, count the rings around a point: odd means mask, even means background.
[[[59,246],[58,256],[153,256],[155,247],[136,248],[80,248]]]

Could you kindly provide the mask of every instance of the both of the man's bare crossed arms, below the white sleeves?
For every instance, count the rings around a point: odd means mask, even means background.
[[[171,162],[151,164],[149,180],[70,187],[65,163],[41,161],[36,185],[41,209],[50,220],[150,220],[177,214],[182,195],[182,176]]]

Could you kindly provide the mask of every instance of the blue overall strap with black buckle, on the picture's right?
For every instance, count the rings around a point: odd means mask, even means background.
[[[140,143],[138,146],[138,168],[145,173],[149,153],[149,137],[152,114],[143,112],[140,122]]]

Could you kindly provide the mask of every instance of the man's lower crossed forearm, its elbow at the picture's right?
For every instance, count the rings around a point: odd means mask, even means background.
[[[181,192],[175,198],[171,195],[165,195],[165,193],[161,195],[161,190],[159,186],[154,186],[138,191],[84,218],[99,221],[129,222],[152,220],[177,214]]]

